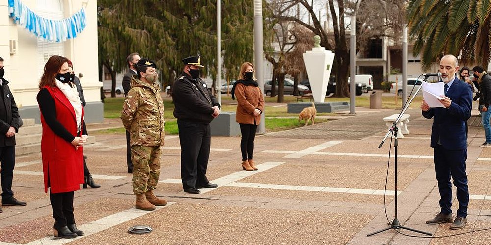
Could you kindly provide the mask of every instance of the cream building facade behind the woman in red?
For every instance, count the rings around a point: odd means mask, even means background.
[[[39,27],[39,20],[53,25]],[[67,20],[71,24],[65,25],[68,28],[55,25]],[[102,122],[97,0],[1,0],[0,33],[4,77],[10,82],[22,118],[40,122],[36,101],[39,80],[46,61],[52,55],[60,55],[73,62],[75,75],[80,77],[87,102],[85,121]]]

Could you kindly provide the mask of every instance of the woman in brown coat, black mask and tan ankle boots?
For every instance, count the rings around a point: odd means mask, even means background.
[[[264,111],[264,98],[254,77],[254,66],[244,62],[239,77],[232,88],[232,99],[237,98],[237,113],[235,121],[241,127],[242,169],[257,170],[254,165],[254,137],[256,128]]]

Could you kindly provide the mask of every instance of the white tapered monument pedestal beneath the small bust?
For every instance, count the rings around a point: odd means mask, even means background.
[[[334,53],[324,47],[314,47],[303,54],[310,88],[315,102],[324,102],[331,74]]]

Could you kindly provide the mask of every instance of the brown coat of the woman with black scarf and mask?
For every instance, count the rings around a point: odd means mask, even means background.
[[[254,110],[259,109],[261,113],[264,112],[264,98],[261,89],[238,83],[235,86],[235,98],[237,98],[235,121],[242,124],[259,125],[261,114],[254,116]]]

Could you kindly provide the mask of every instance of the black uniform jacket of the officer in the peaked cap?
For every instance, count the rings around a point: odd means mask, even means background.
[[[194,80],[182,73],[172,87],[174,101],[174,117],[180,121],[191,123],[210,123],[213,120],[213,106],[218,106],[206,84],[200,78]]]

